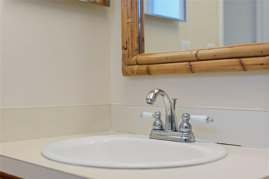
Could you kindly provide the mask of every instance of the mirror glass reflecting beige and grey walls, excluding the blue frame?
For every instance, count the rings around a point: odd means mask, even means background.
[[[185,22],[145,14],[145,53],[269,42],[268,29],[269,1],[187,0]]]

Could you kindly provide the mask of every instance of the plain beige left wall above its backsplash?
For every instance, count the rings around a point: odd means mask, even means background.
[[[1,108],[110,103],[110,8],[1,1]]]

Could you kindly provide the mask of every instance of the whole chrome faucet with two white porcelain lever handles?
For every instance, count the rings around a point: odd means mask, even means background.
[[[151,90],[147,97],[146,102],[148,104],[153,105],[156,101],[158,95],[161,95],[164,104],[165,104],[165,127],[163,127],[163,122],[161,120],[161,113],[155,112],[143,112],[140,114],[140,117],[149,118],[155,117],[155,121],[153,123],[153,129],[150,133],[150,138],[152,139],[162,139],[162,140],[169,140],[169,141],[177,141],[177,142],[195,142],[195,137],[192,132],[192,126],[189,123],[189,120],[199,121],[201,123],[212,123],[213,119],[210,119],[207,116],[194,116],[189,115],[188,113],[184,113],[182,115],[182,123],[178,128],[178,121],[176,119],[175,113],[175,105],[176,105],[176,98],[172,98],[173,104],[169,99],[168,95],[160,90],[154,89]]]

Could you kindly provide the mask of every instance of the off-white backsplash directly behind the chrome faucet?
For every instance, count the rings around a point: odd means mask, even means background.
[[[142,112],[162,113],[165,123],[165,107],[111,105],[111,130],[137,134],[150,134],[154,118],[141,118]],[[178,125],[182,114],[206,115],[213,123],[190,121],[194,136],[208,141],[268,148],[268,111],[227,110],[203,108],[176,108]]]

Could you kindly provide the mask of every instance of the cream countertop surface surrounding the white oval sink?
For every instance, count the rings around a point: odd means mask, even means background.
[[[1,143],[1,156],[31,163],[82,178],[266,178],[268,149],[223,145],[228,156],[206,164],[166,169],[103,169],[74,166],[49,160],[41,150],[53,142],[93,135],[126,134],[99,132]],[[162,151],[165,153],[165,151]],[[164,155],[165,156],[165,155]],[[168,159],[169,160],[169,159]]]

